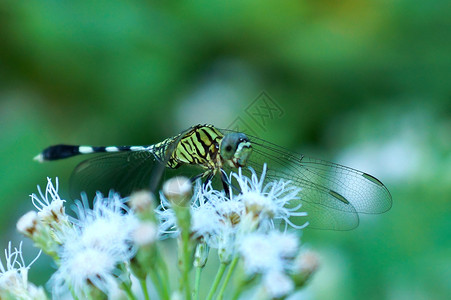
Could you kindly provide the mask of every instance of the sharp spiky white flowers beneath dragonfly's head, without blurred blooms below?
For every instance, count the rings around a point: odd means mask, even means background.
[[[239,172],[232,173],[229,181],[235,180],[240,193],[228,195],[213,189],[211,182],[197,181],[191,201],[191,231],[195,238],[201,239],[212,248],[223,253],[222,259],[230,259],[236,253],[236,246],[247,233],[268,232],[280,221],[296,229],[304,228],[290,222],[290,217],[305,216],[299,212],[300,205],[290,205],[298,200],[300,189],[289,181],[275,181],[264,184],[266,164],[258,178],[250,168],[251,177]],[[155,210],[159,216],[161,237],[178,234],[177,220],[170,201],[161,194],[161,204]]]

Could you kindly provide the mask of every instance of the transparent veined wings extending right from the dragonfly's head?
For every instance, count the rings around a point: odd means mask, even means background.
[[[373,176],[247,136],[253,147],[250,166],[261,172],[263,163],[267,163],[266,180],[283,178],[302,189],[300,210],[308,217],[290,220],[295,224],[302,225],[307,219],[309,228],[349,230],[358,226],[359,213],[378,214],[391,208],[389,191]]]

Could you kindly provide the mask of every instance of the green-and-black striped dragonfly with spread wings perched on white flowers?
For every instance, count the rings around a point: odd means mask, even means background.
[[[384,213],[392,206],[388,189],[368,173],[210,124],[192,126],[160,143],[145,146],[59,144],[44,149],[35,159],[44,162],[94,153],[103,155],[82,161],[71,175],[70,186],[75,194],[113,189],[124,196],[149,188],[151,179],[160,177],[165,170],[183,167],[191,167],[195,174],[192,179],[202,177],[208,182],[219,178],[227,190],[231,184],[227,172],[238,168],[243,173],[250,172],[246,168],[249,166],[261,174],[266,164],[265,182],[285,179],[300,188],[299,199],[292,205],[307,212],[307,228],[354,229],[360,215]],[[305,218],[292,216],[290,221],[302,225]]]

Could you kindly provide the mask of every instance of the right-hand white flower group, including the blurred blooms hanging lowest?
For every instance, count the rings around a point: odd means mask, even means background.
[[[289,181],[265,183],[266,164],[262,175],[250,168],[251,176],[241,169],[232,173],[229,182],[236,184],[229,193],[213,189],[211,183],[197,182],[191,201],[191,235],[218,249],[221,262],[241,257],[249,276],[261,275],[263,292],[270,298],[287,295],[295,288],[290,278],[291,266],[299,253],[297,235],[280,232],[277,225],[302,229],[290,217],[306,216],[300,212],[300,189]],[[233,193],[239,190],[239,193]],[[177,235],[177,218],[171,203],[161,195],[159,215],[161,237]]]

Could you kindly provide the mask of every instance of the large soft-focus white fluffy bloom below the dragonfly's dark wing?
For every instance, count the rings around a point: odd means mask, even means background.
[[[138,219],[119,195],[100,193],[90,209],[86,197],[76,204],[78,219],[70,218],[73,228],[59,253],[60,267],[51,278],[56,296],[69,288],[81,299],[89,296],[92,285],[109,295],[117,288],[118,264],[133,257],[133,234]]]

